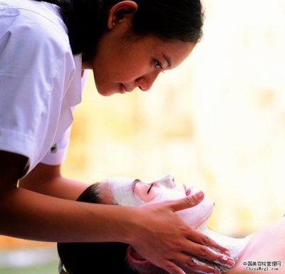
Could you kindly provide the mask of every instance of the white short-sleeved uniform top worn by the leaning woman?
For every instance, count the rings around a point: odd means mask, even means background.
[[[28,171],[59,164],[81,102],[81,56],[55,5],[0,0],[0,22],[0,150],[28,157]]]

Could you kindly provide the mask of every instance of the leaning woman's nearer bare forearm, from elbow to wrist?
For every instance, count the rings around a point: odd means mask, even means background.
[[[23,188],[0,195],[0,234],[29,240],[123,241],[131,208],[68,201]]]

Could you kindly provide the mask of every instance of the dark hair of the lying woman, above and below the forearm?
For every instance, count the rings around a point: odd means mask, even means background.
[[[83,191],[77,201],[100,203],[96,184]],[[125,243],[58,243],[58,255],[68,274],[135,274],[125,259]],[[100,272],[103,271],[103,272]]]

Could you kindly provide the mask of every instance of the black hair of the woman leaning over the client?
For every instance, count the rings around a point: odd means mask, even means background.
[[[35,0],[41,1],[41,0]],[[108,11],[118,0],[45,0],[61,7],[68,28],[73,54],[92,59],[100,36],[105,31]],[[200,0],[133,0],[138,11],[133,33],[153,34],[161,39],[197,43],[202,37],[204,14]]]

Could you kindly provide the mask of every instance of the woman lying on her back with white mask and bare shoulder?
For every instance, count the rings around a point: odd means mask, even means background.
[[[182,198],[193,192],[193,188],[176,185],[172,176],[165,176],[153,183],[143,183],[135,178],[110,178],[108,181],[89,186],[78,201],[140,206]],[[222,265],[218,261],[213,264],[197,258],[193,260],[193,265],[207,263],[212,266],[213,273],[285,273],[284,218],[245,238],[232,238],[208,228],[207,220],[213,208],[214,203],[205,197],[194,208],[177,211],[177,215],[192,228],[228,248],[234,262],[229,260],[227,264]],[[98,270],[104,269],[104,273],[108,274],[165,274],[165,270],[152,265],[132,246],[125,243],[58,243],[58,254],[61,258],[59,273],[98,273]],[[248,265],[248,262],[252,262],[252,266]],[[261,264],[263,262],[270,264]],[[63,270],[63,265],[66,270]],[[187,274],[195,273],[185,265],[179,266]]]

